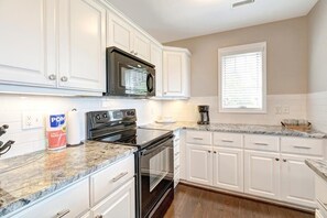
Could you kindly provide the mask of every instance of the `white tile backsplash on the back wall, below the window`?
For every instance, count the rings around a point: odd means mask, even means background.
[[[251,124],[280,124],[283,119],[306,119],[306,95],[269,95],[266,98],[266,113],[221,113],[218,107],[218,97],[192,97],[189,100],[164,101],[163,117],[173,117],[177,121],[197,121],[198,105],[210,107],[211,122],[220,123],[251,123]],[[276,115],[276,107],[287,107],[288,113]]]

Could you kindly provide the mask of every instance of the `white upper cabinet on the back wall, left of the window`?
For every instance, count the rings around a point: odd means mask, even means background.
[[[188,50],[164,47],[163,87],[164,97],[189,97],[190,53]]]

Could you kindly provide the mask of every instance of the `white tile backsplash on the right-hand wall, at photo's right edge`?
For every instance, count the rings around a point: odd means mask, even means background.
[[[307,117],[313,127],[327,132],[327,91],[307,95]]]

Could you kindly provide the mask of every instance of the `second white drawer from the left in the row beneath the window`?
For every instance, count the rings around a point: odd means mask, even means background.
[[[243,148],[243,135],[233,133],[214,132],[214,145]]]

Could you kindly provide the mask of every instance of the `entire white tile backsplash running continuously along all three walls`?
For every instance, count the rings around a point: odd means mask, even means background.
[[[154,122],[160,117],[173,117],[177,121],[197,121],[198,105],[210,106],[211,122],[280,124],[281,120],[309,119],[318,130],[327,132],[327,92],[309,95],[270,95],[268,112],[264,115],[220,113],[218,97],[192,97],[188,100],[143,100],[115,99],[106,97],[45,97],[0,95],[0,124],[9,124],[8,133],[1,141],[14,140],[12,150],[1,159],[21,155],[45,149],[45,129],[22,130],[24,111],[40,112],[45,116],[52,111],[66,112],[76,108],[80,112],[80,131],[85,135],[85,112],[90,110],[109,110],[135,108],[138,124]],[[307,107],[308,103],[308,107]],[[288,115],[276,115],[276,107],[287,107]],[[308,116],[307,116],[308,108]]]

